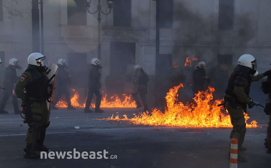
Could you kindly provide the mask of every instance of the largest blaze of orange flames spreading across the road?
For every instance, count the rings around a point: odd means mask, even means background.
[[[213,87],[208,87],[207,91],[199,91],[193,98],[194,103],[187,103],[184,105],[178,101],[178,89],[183,88],[183,84],[170,88],[170,91],[165,97],[167,107],[165,112],[158,109],[153,109],[151,114],[149,112],[142,112],[139,115],[135,115],[129,119],[126,115],[124,118],[117,114],[114,118],[112,115],[109,118],[97,119],[97,120],[113,120],[113,121],[128,121],[132,124],[143,124],[152,126],[185,126],[185,127],[232,127],[230,122],[229,113],[222,110],[222,100],[213,100]],[[223,112],[222,112],[223,111]],[[249,119],[249,116],[245,114],[245,120]],[[247,127],[257,127],[257,122],[252,121],[251,124],[247,124]]]

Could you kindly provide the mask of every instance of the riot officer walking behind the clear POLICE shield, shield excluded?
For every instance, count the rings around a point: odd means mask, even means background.
[[[142,100],[143,106],[144,106],[144,111],[148,110],[148,104],[147,104],[147,82],[150,80],[148,74],[143,71],[143,68],[140,67],[140,65],[137,65],[136,69],[140,70],[140,75],[138,79],[138,87],[137,87],[137,92],[132,93],[132,96],[135,100],[136,103],[136,108],[142,107],[137,94],[140,94],[140,98]]]

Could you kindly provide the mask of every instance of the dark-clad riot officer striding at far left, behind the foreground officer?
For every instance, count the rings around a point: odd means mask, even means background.
[[[8,99],[12,96],[12,104],[14,107],[14,114],[21,114],[21,110],[19,110],[18,100],[16,96],[12,95],[12,90],[14,88],[14,84],[17,83],[19,77],[17,77],[16,69],[21,70],[19,60],[16,58],[11,58],[9,60],[9,66],[6,67],[5,76],[4,76],[4,96],[0,105],[0,114],[6,114],[8,111],[5,111],[5,106],[7,104]]]

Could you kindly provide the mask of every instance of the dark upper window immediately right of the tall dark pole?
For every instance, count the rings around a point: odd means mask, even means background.
[[[159,1],[159,22],[160,28],[172,28],[172,0]]]

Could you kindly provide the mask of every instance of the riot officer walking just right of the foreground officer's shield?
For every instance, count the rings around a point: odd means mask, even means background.
[[[76,108],[71,105],[69,85],[71,84],[71,75],[68,73],[68,66],[66,60],[61,58],[57,61],[58,72],[57,72],[57,87],[56,87],[56,97],[54,98],[52,109],[58,110],[56,104],[62,94],[65,95],[68,104],[68,110],[75,110]]]

